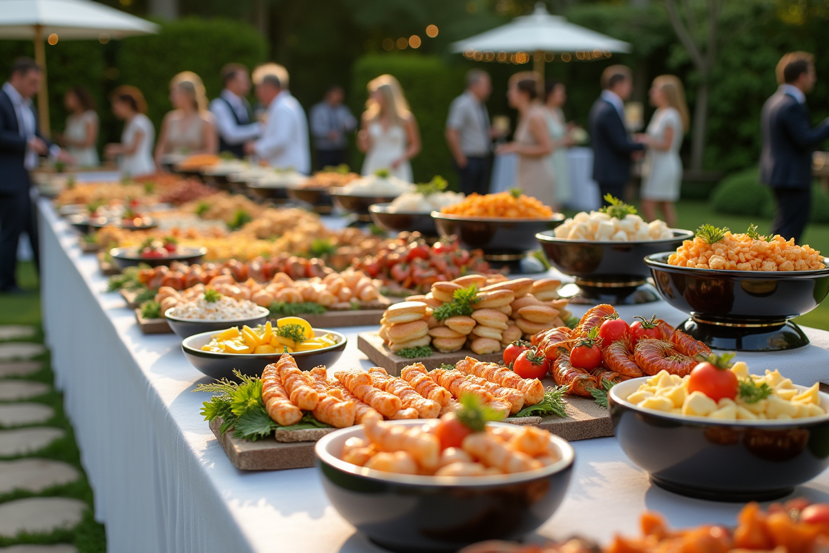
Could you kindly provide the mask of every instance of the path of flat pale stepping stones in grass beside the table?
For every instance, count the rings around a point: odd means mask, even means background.
[[[35,327],[0,326],[0,496],[12,492],[41,493],[77,482],[80,471],[62,461],[23,457],[46,448],[65,436],[63,429],[44,424],[55,416],[49,405],[31,401],[51,391],[43,382],[25,380],[41,370],[41,361],[29,361],[46,352],[36,342],[7,342],[36,335]],[[22,427],[22,428],[17,428]],[[14,458],[21,457],[21,458]],[[25,533],[49,534],[70,530],[83,520],[85,502],[70,497],[26,497],[0,503],[0,537]],[[75,546],[16,545],[0,547],[0,553],[78,553]]]

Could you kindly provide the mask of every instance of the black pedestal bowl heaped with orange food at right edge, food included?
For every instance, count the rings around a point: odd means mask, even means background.
[[[662,298],[691,315],[681,329],[710,347],[779,351],[804,347],[791,321],[829,293],[829,265],[819,251],[783,237],[701,226],[673,253],[648,255]]]

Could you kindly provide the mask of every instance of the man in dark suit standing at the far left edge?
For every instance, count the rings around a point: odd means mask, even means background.
[[[34,61],[20,58],[0,90],[0,293],[22,292],[17,287],[15,269],[17,244],[23,232],[29,236],[38,263],[29,171],[37,167],[39,155],[52,153],[71,159],[37,129],[32,96],[40,88],[41,76],[41,68]]]

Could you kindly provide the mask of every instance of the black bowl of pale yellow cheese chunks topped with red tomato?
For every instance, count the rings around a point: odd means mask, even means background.
[[[797,386],[777,369],[750,374],[742,361],[701,383],[701,365],[608,392],[613,434],[651,483],[713,501],[768,501],[829,466],[829,395],[819,384]]]

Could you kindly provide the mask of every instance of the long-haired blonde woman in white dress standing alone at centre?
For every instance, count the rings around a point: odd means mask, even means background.
[[[400,83],[391,75],[380,75],[368,84],[368,93],[357,134],[357,147],[366,153],[362,174],[386,169],[395,177],[412,182],[409,162],[420,152],[420,133]]]

